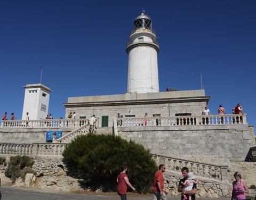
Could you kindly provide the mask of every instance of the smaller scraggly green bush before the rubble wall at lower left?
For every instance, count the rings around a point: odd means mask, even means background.
[[[21,176],[22,170],[26,166],[31,168],[33,164],[34,161],[28,156],[11,156],[4,174],[6,177],[11,178],[12,182],[15,182],[16,178]]]

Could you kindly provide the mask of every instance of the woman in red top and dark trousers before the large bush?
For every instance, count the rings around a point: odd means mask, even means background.
[[[128,186],[135,191],[135,188],[129,182],[129,178],[126,175],[127,167],[121,166],[121,173],[118,174],[116,182],[118,183],[117,192],[121,196],[121,200],[126,200]]]

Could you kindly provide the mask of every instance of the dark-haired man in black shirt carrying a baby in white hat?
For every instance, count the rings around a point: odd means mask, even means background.
[[[180,180],[179,187],[178,187],[178,192],[181,193],[181,200],[183,200],[184,195],[186,195],[187,198],[188,198],[188,195],[191,195],[191,200],[196,199],[196,184],[193,185],[192,190],[190,191],[183,190],[185,187],[188,187],[189,184],[186,184],[185,186],[181,184],[181,182],[185,182],[188,179],[188,172],[189,170],[188,168],[186,168],[186,166],[181,169],[182,176],[184,177],[183,179]]]

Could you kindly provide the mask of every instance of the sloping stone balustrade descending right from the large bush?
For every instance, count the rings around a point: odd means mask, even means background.
[[[193,172],[197,176],[214,180],[227,181],[228,166],[217,166],[212,164],[175,159],[169,156],[160,156],[156,154],[152,155],[156,164],[164,164],[166,170],[181,172],[181,169],[186,166],[190,172]]]

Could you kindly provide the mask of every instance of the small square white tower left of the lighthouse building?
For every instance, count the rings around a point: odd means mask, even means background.
[[[45,119],[48,114],[51,89],[42,84],[24,86],[25,98],[22,120],[26,120],[27,112],[30,120]]]

